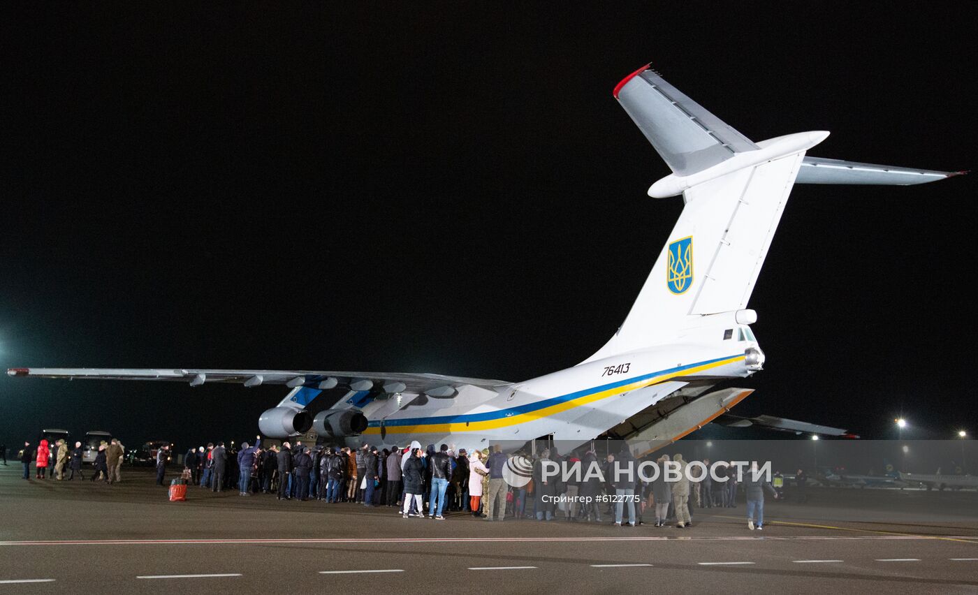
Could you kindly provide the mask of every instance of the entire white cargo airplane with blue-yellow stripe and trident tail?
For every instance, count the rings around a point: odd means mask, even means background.
[[[524,382],[426,373],[306,370],[12,368],[12,376],[284,384],[262,413],[261,432],[316,433],[333,444],[449,443],[511,450],[538,437],[584,444],[600,435],[650,450],[711,421],[724,421],[753,391],[709,389],[761,369],[764,353],[747,300],[794,184],[913,185],[956,175],[806,157],[827,132],[754,143],[664,81],[649,66],[614,97],[672,169],[648,189],[683,195],[686,206],[628,318],[596,354]],[[957,172],[960,173],[960,172]],[[318,413],[322,392],[345,389]],[[335,395],[335,393],[333,393]],[[328,399],[321,399],[328,401]],[[318,405],[318,404],[317,404]],[[844,431],[762,416],[732,425],[841,435]]]

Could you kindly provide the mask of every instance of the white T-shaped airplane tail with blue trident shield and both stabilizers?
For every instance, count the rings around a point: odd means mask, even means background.
[[[905,185],[955,175],[806,157],[824,131],[752,142],[648,66],[613,95],[673,172],[648,195],[682,194],[686,206],[628,317],[586,361],[753,322],[747,300],[796,182]]]

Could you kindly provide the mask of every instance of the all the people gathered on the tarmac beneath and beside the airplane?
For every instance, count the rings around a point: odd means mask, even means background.
[[[29,479],[33,462],[35,479],[73,480],[77,474],[83,480],[83,452],[81,443],[69,447],[64,440],[54,445],[41,440],[36,450],[24,443],[23,479]],[[116,439],[100,445],[90,481],[120,481],[123,454],[124,446]],[[158,485],[164,485],[170,454],[169,446],[156,451]],[[715,476],[726,477],[726,482],[714,481],[709,474],[690,481],[686,473],[677,481],[666,481],[664,474],[650,482],[634,477],[624,480],[613,471],[615,461],[626,466],[638,462],[626,447],[600,461],[600,477],[565,480],[545,477],[545,463],[580,462],[589,468],[599,462],[597,452],[588,449],[561,456],[552,446],[537,455],[522,451],[514,455],[532,464],[531,477],[521,486],[506,482],[508,456],[499,446],[469,451],[450,445],[422,448],[413,441],[404,447],[378,448],[364,443],[352,449],[306,446],[296,440],[262,447],[258,436],[253,446],[219,442],[190,448],[183,457],[182,479],[215,492],[237,488],[242,496],[274,493],[279,500],[386,506],[395,508],[405,519],[427,516],[439,521],[445,519],[446,512],[468,513],[485,521],[510,517],[602,523],[603,516],[617,527],[636,527],[647,519],[656,528],[689,529],[696,508],[736,507],[738,482],[733,466],[716,467]],[[663,454],[654,460],[662,464],[671,458]],[[672,460],[683,470],[689,464],[682,454],[673,455]],[[51,461],[53,469],[49,469]],[[701,462],[710,467],[709,459]],[[748,528],[763,530],[764,492],[776,498],[778,492],[764,478],[751,478],[750,474],[743,477],[743,491]]]

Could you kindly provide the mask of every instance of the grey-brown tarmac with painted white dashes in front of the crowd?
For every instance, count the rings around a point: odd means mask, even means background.
[[[199,487],[169,502],[151,470],[123,469],[108,486],[0,466],[0,592],[978,592],[974,491],[810,489],[769,498],[763,532],[742,501],[694,509],[689,530],[631,529]]]

